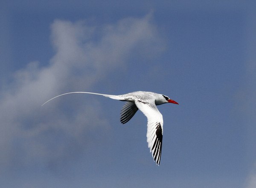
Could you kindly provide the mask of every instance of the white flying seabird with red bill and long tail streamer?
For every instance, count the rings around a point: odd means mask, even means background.
[[[149,91],[135,91],[127,94],[121,95],[111,95],[111,94],[99,94],[92,92],[76,91],[69,92],[58,95],[60,97],[66,94],[95,94],[102,95],[104,97],[109,97],[114,100],[125,101],[125,105],[122,107],[120,112],[120,122],[125,124],[134,116],[134,114],[140,109],[143,114],[147,117],[147,142],[148,148],[152,154],[152,157],[156,164],[160,165],[161,153],[162,153],[162,143],[163,143],[163,115],[157,109],[157,105],[162,105],[165,103],[179,104],[176,101],[170,99],[166,95],[157,94]],[[55,99],[53,97],[50,100]],[[45,102],[48,103],[50,100]],[[43,104],[43,105],[44,105]],[[42,105],[42,106],[43,106]]]

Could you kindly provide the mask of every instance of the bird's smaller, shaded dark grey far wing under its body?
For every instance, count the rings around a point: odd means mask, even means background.
[[[122,107],[121,113],[120,113],[120,121],[122,124],[125,124],[131,118],[134,116],[134,114],[138,111],[137,106],[135,103],[127,102]]]

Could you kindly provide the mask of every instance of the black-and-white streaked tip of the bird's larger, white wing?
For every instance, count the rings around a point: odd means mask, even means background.
[[[153,152],[154,161],[157,160],[156,161],[157,165],[160,164],[161,152],[162,152],[162,142],[163,142],[163,130],[162,130],[160,123],[158,123],[158,125],[156,127],[156,139],[154,141],[154,145],[151,150]]]

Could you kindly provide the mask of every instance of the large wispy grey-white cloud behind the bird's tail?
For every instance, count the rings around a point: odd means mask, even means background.
[[[108,131],[100,104],[67,109],[49,98],[68,91],[91,91],[125,65],[134,50],[151,54],[160,38],[151,15],[91,26],[86,21],[55,20],[51,25],[54,56],[47,66],[30,62],[0,91],[0,172],[35,164],[69,161],[90,145],[93,131]],[[38,44],[40,45],[40,44]],[[103,113],[103,112],[102,112]],[[93,122],[93,123],[92,123]]]

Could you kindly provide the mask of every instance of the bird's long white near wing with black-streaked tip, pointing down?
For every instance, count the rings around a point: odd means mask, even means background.
[[[147,142],[148,148],[157,165],[160,164],[162,141],[163,141],[163,116],[158,111],[154,101],[135,100],[136,106],[148,119]]]

